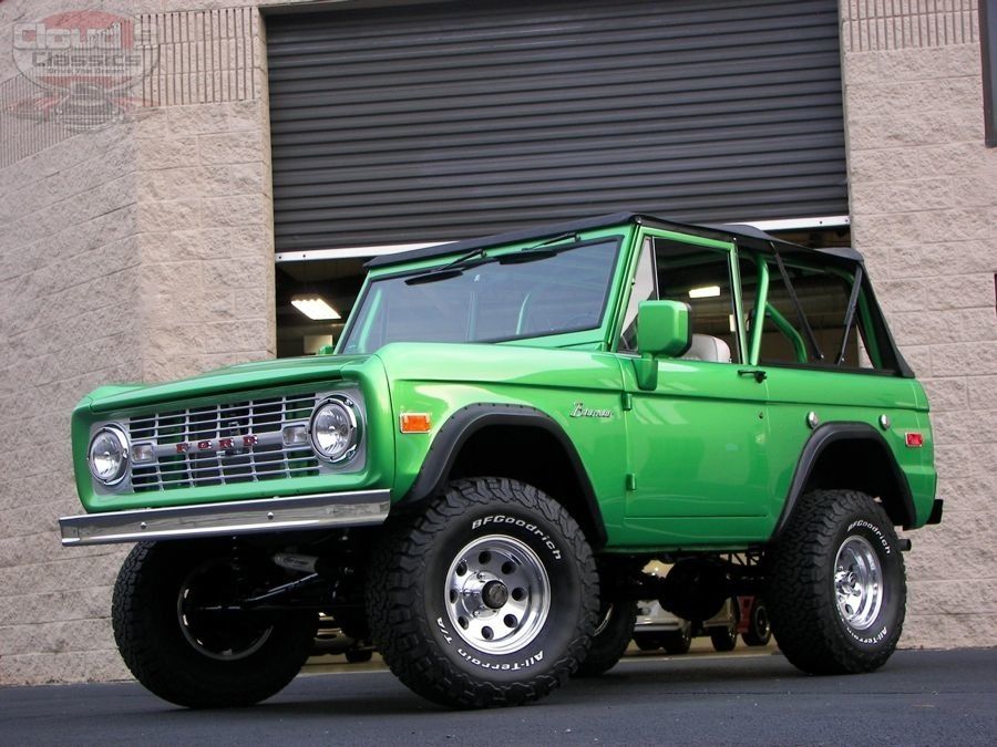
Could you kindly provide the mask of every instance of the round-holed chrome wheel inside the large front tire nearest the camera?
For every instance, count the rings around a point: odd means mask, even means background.
[[[536,553],[498,535],[466,544],[446,573],[446,613],[466,643],[489,654],[518,651],[543,629],[551,581]]]

